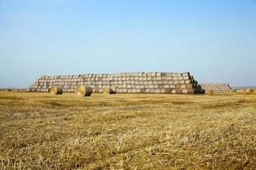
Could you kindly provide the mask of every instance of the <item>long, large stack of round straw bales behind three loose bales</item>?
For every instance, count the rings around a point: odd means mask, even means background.
[[[119,74],[84,74],[73,76],[40,77],[30,87],[31,92],[48,92],[56,86],[63,92],[74,92],[79,85],[92,88],[94,93],[102,93],[111,88],[117,94],[203,94],[201,85],[189,72],[136,72]]]

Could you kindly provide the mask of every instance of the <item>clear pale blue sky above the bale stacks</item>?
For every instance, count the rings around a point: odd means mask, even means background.
[[[256,1],[0,0],[0,59],[0,88],[133,71],[256,86]]]

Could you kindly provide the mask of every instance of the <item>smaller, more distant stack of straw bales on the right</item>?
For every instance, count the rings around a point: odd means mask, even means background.
[[[202,83],[201,88],[206,91],[213,91],[213,93],[230,93],[232,88],[230,88],[229,83]]]

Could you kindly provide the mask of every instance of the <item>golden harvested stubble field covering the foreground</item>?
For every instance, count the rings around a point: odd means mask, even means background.
[[[0,169],[256,169],[256,95],[0,92]]]

